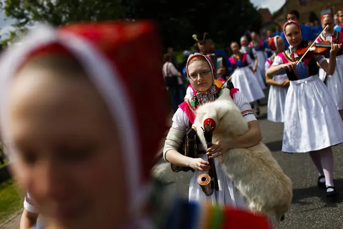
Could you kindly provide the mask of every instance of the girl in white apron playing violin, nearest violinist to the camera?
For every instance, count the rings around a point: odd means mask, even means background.
[[[343,142],[343,122],[325,84],[318,77],[317,63],[329,75],[335,72],[336,51],[340,45],[332,44],[329,63],[322,55],[310,53],[297,64],[296,51],[303,45],[301,27],[295,21],[283,26],[290,44],[288,50],[277,54],[267,76],[286,70],[290,87],[285,102],[285,125],[282,151],[309,152],[319,171],[318,185],[326,186],[326,196],[337,191],[333,183],[333,153],[331,146]]]

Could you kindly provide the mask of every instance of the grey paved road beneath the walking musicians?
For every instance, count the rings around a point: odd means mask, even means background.
[[[266,103],[266,100],[262,101]],[[335,186],[341,191],[335,201],[325,198],[325,191],[317,187],[318,173],[308,154],[281,153],[283,124],[266,120],[267,107],[262,106],[259,123],[263,142],[293,180],[293,206],[279,229],[343,229],[343,144],[334,147]],[[172,173],[170,164],[163,159],[154,168],[154,174],[170,182],[172,190],[188,197],[189,180],[192,173]]]

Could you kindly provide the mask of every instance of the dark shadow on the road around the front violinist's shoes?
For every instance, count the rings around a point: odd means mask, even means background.
[[[335,187],[339,194],[335,198],[327,198],[325,196],[325,189],[319,189],[317,186],[308,188],[293,189],[292,204],[308,205],[313,204],[309,201],[312,197],[319,197],[325,203],[324,207],[336,207],[337,204],[343,203],[343,179],[334,180]],[[312,199],[313,200],[313,199]]]

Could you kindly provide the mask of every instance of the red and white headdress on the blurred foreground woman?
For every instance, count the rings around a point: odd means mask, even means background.
[[[75,24],[57,29],[42,25],[33,29],[18,45],[5,51],[0,61],[2,136],[6,136],[9,118],[8,89],[18,68],[33,55],[72,55],[107,102],[119,128],[120,142],[125,146],[123,175],[135,212],[144,202],[142,187],[149,178],[167,118],[159,44],[156,28],[150,22]],[[11,139],[3,140],[11,150]],[[9,154],[15,159],[15,153]]]

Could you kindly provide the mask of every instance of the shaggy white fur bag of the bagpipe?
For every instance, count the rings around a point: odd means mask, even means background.
[[[196,110],[194,126],[204,149],[207,147],[202,127],[206,119],[213,119],[216,123],[213,142],[237,139],[249,129],[226,88],[215,102],[206,103]],[[216,160],[221,161],[221,157]],[[260,142],[247,149],[225,152],[222,168],[246,198],[251,211],[276,221],[283,220],[283,215],[291,208],[292,181],[265,144]]]

